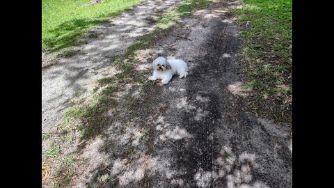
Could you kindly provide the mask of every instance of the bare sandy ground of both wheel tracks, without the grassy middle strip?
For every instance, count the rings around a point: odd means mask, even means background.
[[[150,3],[168,6],[147,1],[132,11],[143,13]],[[228,14],[239,3],[216,2],[196,10],[145,51],[147,63],[138,72],[149,70],[162,55],[184,59],[189,75],[173,77],[166,86],[129,85],[122,96],[132,96],[133,104],[120,99],[109,125],[69,151],[89,159],[85,169],[77,169],[72,187],[101,187],[97,177],[104,174],[110,180],[103,187],[292,187],[292,125],[276,125],[244,110],[249,91],[238,74],[241,28]],[[134,24],[133,29],[114,28],[124,35],[104,24],[103,39],[88,41],[79,54],[43,70],[43,131],[56,124],[65,101],[88,92],[92,75],[108,74],[94,68],[112,66],[108,59],[134,42],[126,36],[152,30],[150,24],[138,29],[140,22],[126,19],[129,15],[111,21]],[[115,42],[117,36],[125,36],[125,43]]]

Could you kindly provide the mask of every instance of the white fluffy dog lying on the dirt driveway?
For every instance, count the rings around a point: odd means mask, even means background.
[[[152,67],[153,75],[148,79],[162,79],[161,84],[168,84],[173,75],[180,75],[180,78],[185,78],[188,75],[188,66],[182,59],[158,57],[153,61]]]

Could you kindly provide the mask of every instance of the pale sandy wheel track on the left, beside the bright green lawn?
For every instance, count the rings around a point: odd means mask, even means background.
[[[72,49],[73,56],[56,61],[42,59],[42,130],[49,132],[63,116],[65,104],[75,95],[88,95],[92,81],[110,74],[103,68],[122,54],[139,36],[152,31],[158,16],[180,0],[145,1],[128,12],[95,26],[85,44]]]

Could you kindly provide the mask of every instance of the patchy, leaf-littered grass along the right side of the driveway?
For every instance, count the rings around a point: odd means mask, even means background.
[[[292,0],[244,0],[234,10],[244,45],[246,87],[252,89],[249,107],[262,118],[292,120]]]

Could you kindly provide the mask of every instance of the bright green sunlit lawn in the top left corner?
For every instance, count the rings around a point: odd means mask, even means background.
[[[54,52],[70,47],[91,26],[128,10],[143,0],[104,0],[83,6],[90,0],[42,1],[42,51]],[[90,34],[89,37],[96,37]]]

